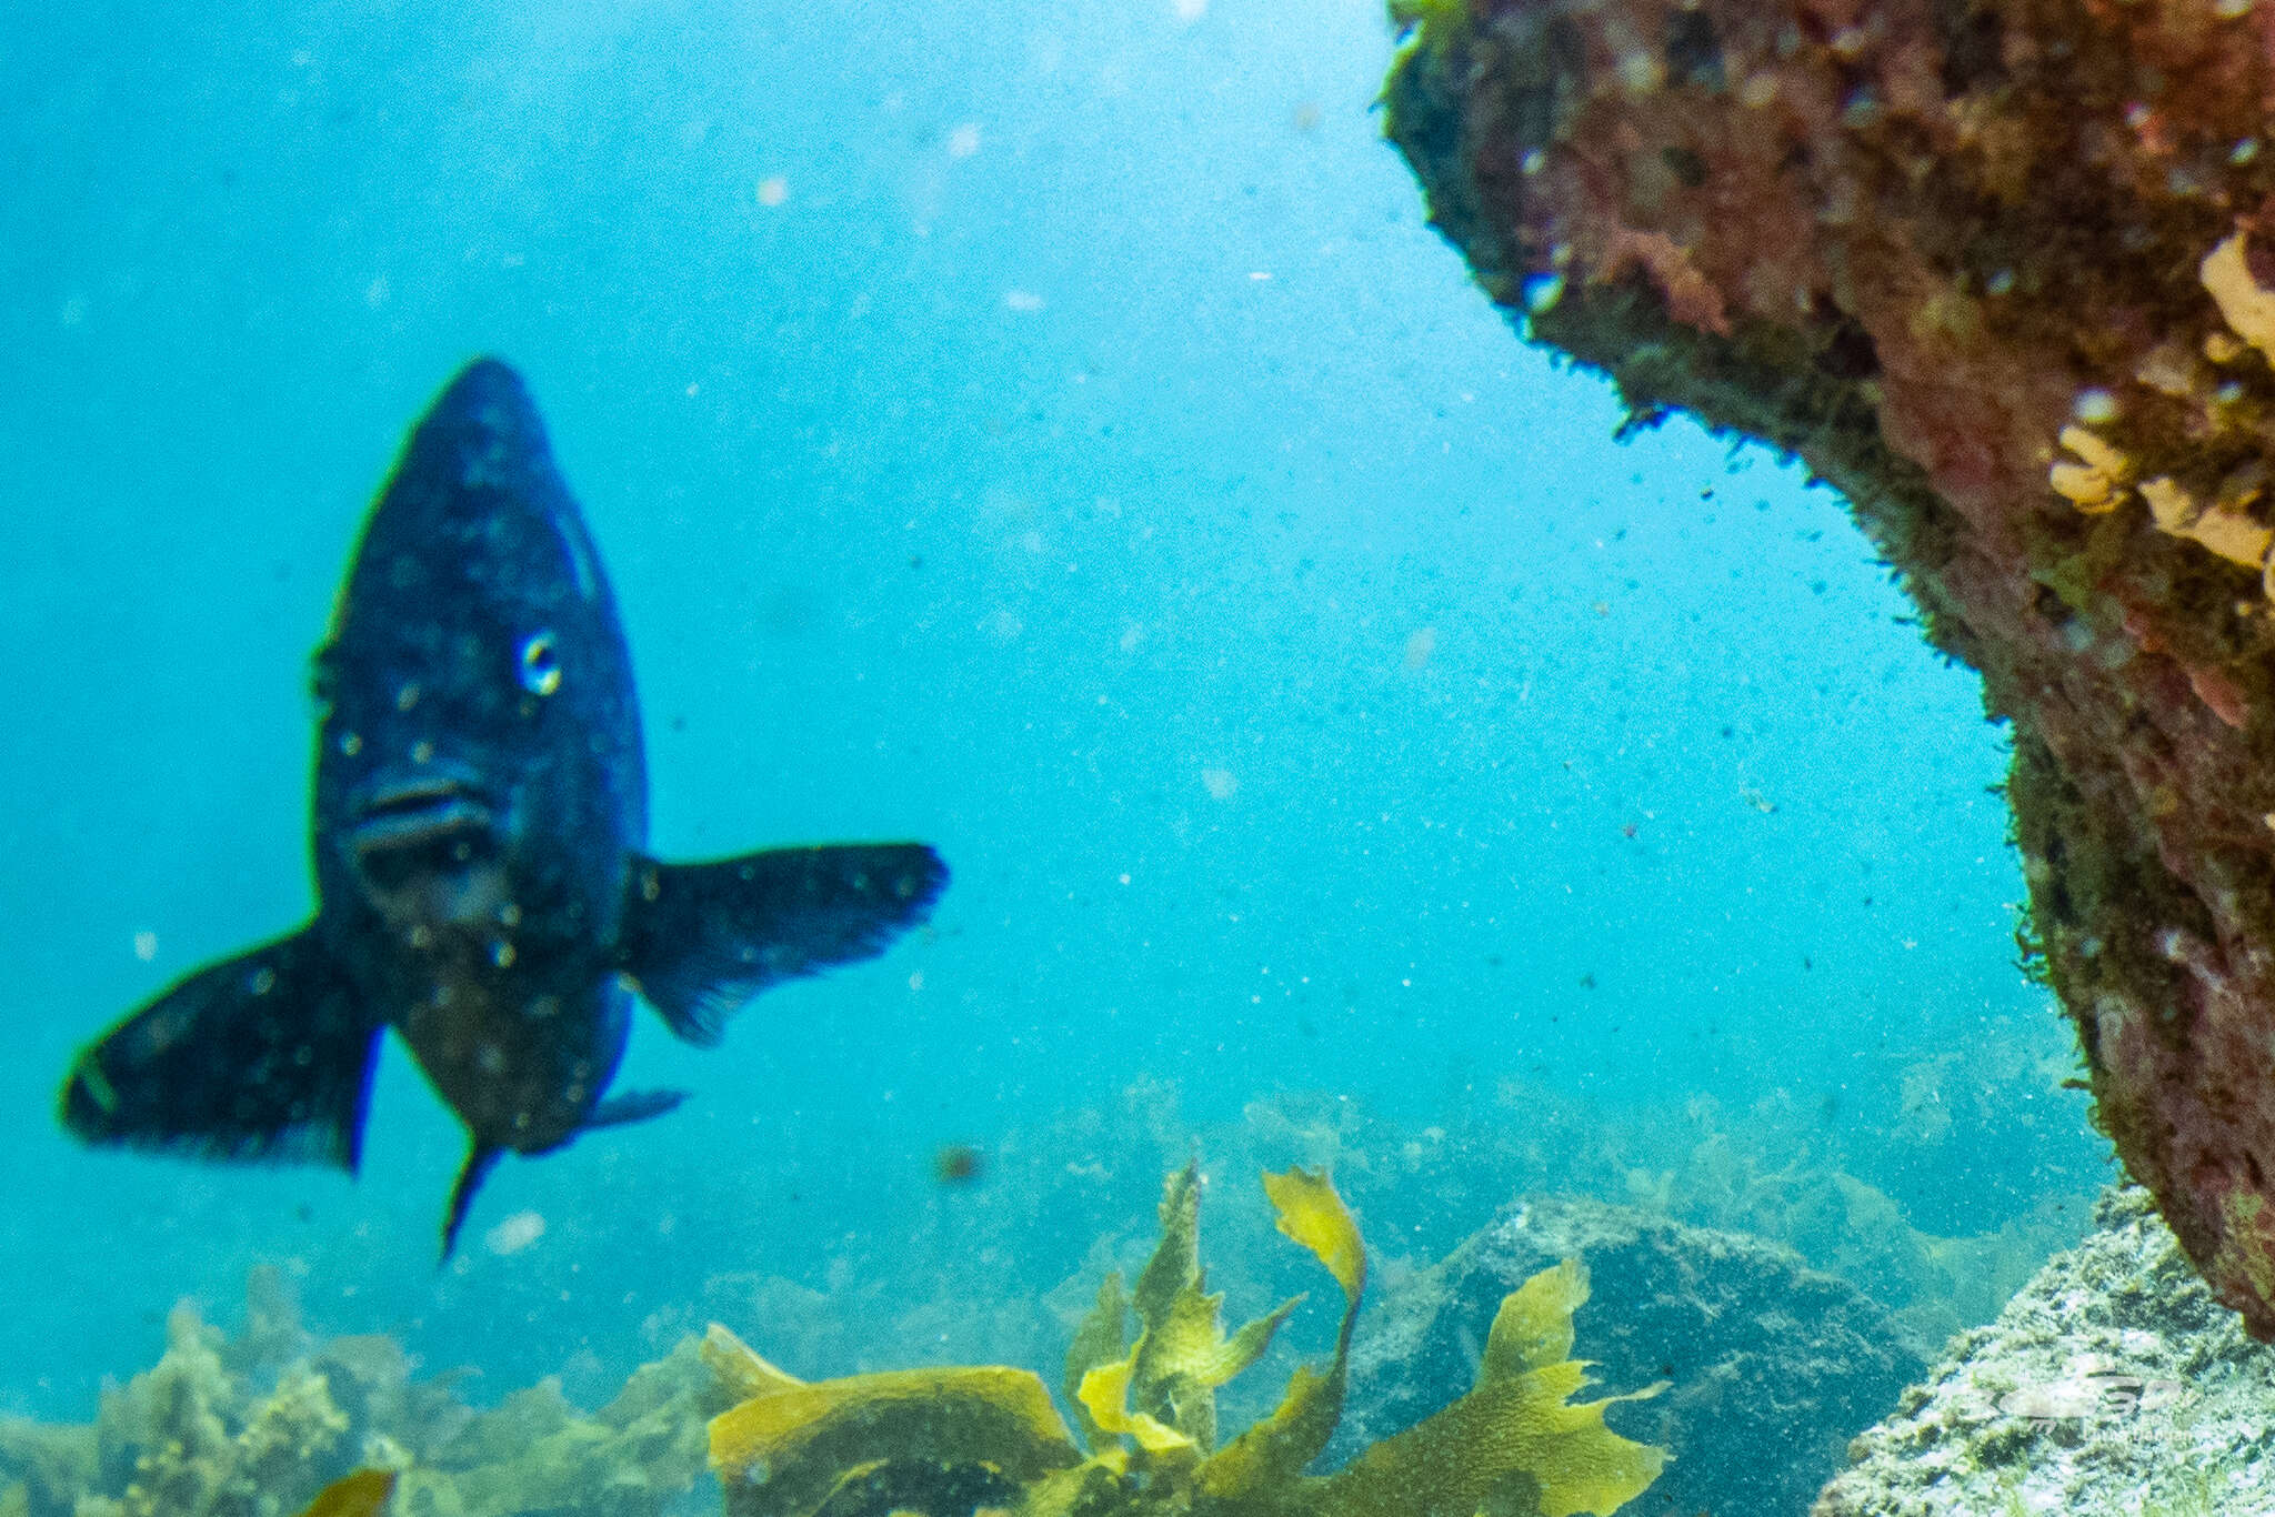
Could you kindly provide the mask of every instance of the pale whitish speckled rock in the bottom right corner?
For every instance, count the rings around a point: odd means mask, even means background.
[[[2270,1512],[2268,1385],[2252,1342],[2189,1267],[2145,1192],[1961,1333],[1815,1517]]]

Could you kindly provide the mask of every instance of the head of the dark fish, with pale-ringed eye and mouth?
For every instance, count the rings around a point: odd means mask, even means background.
[[[412,430],[316,653],[325,910],[610,942],[646,773],[601,557],[512,368]]]

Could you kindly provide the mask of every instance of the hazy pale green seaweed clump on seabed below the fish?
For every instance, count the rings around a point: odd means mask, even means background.
[[[753,1385],[689,1337],[598,1412],[553,1381],[482,1410],[394,1340],[303,1331],[275,1269],[246,1296],[237,1337],[177,1305],[91,1426],[0,1417],[0,1517],[664,1517]]]

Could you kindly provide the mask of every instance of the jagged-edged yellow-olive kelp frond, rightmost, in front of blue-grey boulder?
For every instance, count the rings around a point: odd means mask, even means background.
[[[1572,1406],[1588,1383],[1579,1360],[1529,1362],[1572,1346],[1572,1310],[1588,1299],[1574,1260],[1542,1269],[1502,1301],[1476,1390],[1436,1417],[1374,1444],[1331,1478],[1310,1506],[1320,1517],[1474,1517],[1488,1497],[1524,1492],[1513,1510],[1540,1517],[1611,1517],[1665,1467],[1665,1449],[1604,1426],[1604,1408],[1643,1401],[1665,1385]],[[1504,1331],[1506,1324],[1506,1331]]]

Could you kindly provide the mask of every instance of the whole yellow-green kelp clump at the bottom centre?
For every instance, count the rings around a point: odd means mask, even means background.
[[[1665,1451],[1613,1433],[1604,1408],[1661,1385],[1572,1401],[1588,1383],[1588,1365],[1570,1358],[1572,1312],[1588,1299],[1577,1260],[1508,1294],[1465,1396],[1333,1476],[1304,1474],[1342,1419],[1367,1255],[1324,1174],[1263,1183],[1279,1230],[1335,1278],[1345,1310],[1326,1367],[1299,1367],[1279,1408],[1224,1446],[1215,1392],[1256,1365],[1297,1301],[1224,1333],[1222,1296],[1199,1265],[1199,1169],[1188,1164],[1163,1187],[1160,1244],[1128,1296],[1108,1276],[1076,1328],[1065,1387],[1083,1444],[1021,1369],[805,1385],[714,1331],[714,1374],[755,1387],[710,1424],[728,1517],[974,1506],[1017,1517],[1611,1517],[1658,1478]]]

